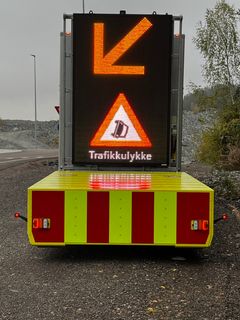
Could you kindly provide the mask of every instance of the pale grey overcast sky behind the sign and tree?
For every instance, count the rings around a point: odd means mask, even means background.
[[[85,11],[183,15],[186,35],[185,92],[189,82],[203,84],[201,57],[192,38],[196,25],[216,0],[85,0]],[[240,0],[228,3],[240,8]],[[34,119],[33,57],[37,56],[38,120],[57,119],[59,33],[63,13],[82,12],[82,0],[0,0],[0,117]]]

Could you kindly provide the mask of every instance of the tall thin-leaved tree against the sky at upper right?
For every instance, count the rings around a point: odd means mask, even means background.
[[[240,83],[239,11],[225,0],[208,9],[205,23],[199,23],[193,41],[204,57],[203,75],[210,86],[224,85],[235,102]]]

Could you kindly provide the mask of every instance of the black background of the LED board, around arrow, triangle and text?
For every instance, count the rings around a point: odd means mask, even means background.
[[[117,61],[143,65],[145,75],[94,74],[93,24],[104,23],[104,53],[147,18],[152,27]],[[171,15],[73,15],[73,164],[99,166],[168,166],[171,105],[173,17]],[[124,93],[153,146],[91,147],[90,141],[119,93]],[[105,156],[90,159],[89,151],[151,154],[151,160],[130,162]],[[106,155],[106,153],[105,153]],[[115,153],[116,155],[116,153]],[[116,158],[116,157],[115,157]]]

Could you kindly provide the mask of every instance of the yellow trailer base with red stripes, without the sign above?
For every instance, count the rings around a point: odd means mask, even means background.
[[[49,219],[50,227],[33,228],[34,219]],[[193,221],[205,221],[205,229]],[[58,171],[29,188],[28,235],[44,246],[205,247],[213,236],[213,190],[186,173]]]

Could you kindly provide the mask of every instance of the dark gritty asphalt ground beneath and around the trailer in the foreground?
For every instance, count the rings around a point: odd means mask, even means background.
[[[215,228],[211,248],[36,248],[27,187],[56,168],[34,161],[0,171],[0,319],[240,319],[240,223]],[[216,200],[216,214],[226,211]]]

